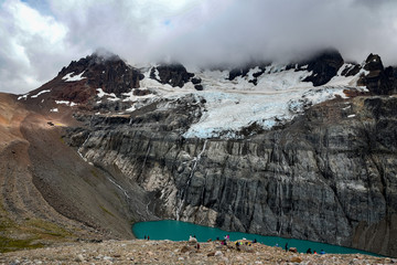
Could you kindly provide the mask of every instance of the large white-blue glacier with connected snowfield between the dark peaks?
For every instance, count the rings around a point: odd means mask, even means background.
[[[344,67],[348,67],[345,65]],[[314,87],[311,82],[303,82],[309,72],[307,65],[303,71],[286,70],[285,65],[272,64],[265,68],[265,73],[257,77],[257,85],[249,81],[259,67],[251,68],[247,76],[228,80],[228,71],[197,71],[195,76],[202,80],[204,91],[195,91],[191,82],[183,87],[172,87],[150,78],[151,67],[142,71],[144,78],[140,82],[140,89],[150,91],[149,95],[135,96],[133,92],[122,94],[125,102],[133,102],[126,112],[133,112],[147,104],[168,99],[158,105],[158,109],[172,109],[174,102],[184,96],[193,96],[202,102],[202,115],[197,123],[192,124],[183,135],[186,138],[237,138],[242,129],[248,126],[270,129],[273,126],[288,123],[312,105],[335,98],[346,98],[344,89],[360,89],[356,81],[365,71],[355,76],[341,76],[343,66],[330,83]],[[155,72],[154,72],[155,73]],[[99,91],[98,96],[106,95]]]

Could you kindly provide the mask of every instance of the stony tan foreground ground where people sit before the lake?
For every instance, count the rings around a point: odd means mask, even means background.
[[[393,264],[397,259],[362,254],[300,254],[259,243],[195,243],[170,241],[77,242],[0,254],[0,264]]]

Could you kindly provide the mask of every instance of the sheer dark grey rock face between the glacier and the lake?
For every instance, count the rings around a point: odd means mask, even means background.
[[[90,131],[71,145],[138,183],[159,218],[397,255],[396,98],[335,99],[245,140],[185,139],[200,104],[82,117]]]

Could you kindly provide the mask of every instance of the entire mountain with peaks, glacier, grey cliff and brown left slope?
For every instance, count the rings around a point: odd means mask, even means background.
[[[6,234],[47,239],[35,223],[51,220],[131,239],[131,222],[176,219],[396,256],[396,73],[335,51],[229,68],[72,62],[0,94],[1,209],[29,229]]]

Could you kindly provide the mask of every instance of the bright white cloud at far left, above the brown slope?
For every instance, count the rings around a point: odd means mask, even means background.
[[[24,93],[54,76],[64,64],[67,28],[18,0],[0,9],[0,91]]]

